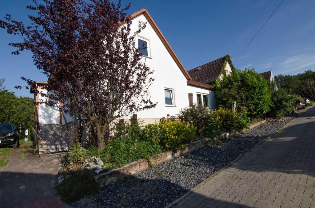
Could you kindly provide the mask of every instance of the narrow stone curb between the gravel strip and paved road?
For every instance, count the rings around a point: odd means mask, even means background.
[[[295,118],[293,118],[291,121],[293,121]],[[170,208],[173,207],[175,205],[177,205],[178,203],[180,203],[182,200],[184,200],[186,197],[188,197],[190,194],[192,194],[194,191],[198,190],[199,188],[201,188],[201,186],[203,186],[203,184],[207,183],[208,181],[210,181],[211,179],[215,178],[217,175],[219,175],[222,171],[224,171],[226,168],[230,167],[233,163],[239,161],[240,159],[242,159],[244,156],[246,156],[249,152],[253,151],[254,149],[258,148],[260,145],[262,145],[265,141],[269,140],[271,138],[271,136],[273,136],[274,134],[277,134],[280,130],[282,130],[285,126],[287,126],[291,121],[289,121],[288,123],[286,123],[284,126],[282,126],[281,128],[279,128],[275,133],[270,134],[269,137],[267,137],[266,139],[262,140],[260,143],[258,143],[257,145],[255,145],[254,147],[252,147],[251,149],[249,149],[248,151],[246,151],[245,153],[243,153],[241,156],[238,156],[235,160],[233,160],[232,162],[228,163],[226,166],[222,167],[220,170],[218,170],[217,172],[213,173],[211,176],[209,176],[207,179],[205,179],[204,181],[202,181],[201,183],[199,183],[197,186],[195,186],[194,188],[192,188],[190,191],[188,191],[186,194],[182,195],[180,198],[178,198],[177,200],[173,201],[172,203],[166,205],[164,208]]]

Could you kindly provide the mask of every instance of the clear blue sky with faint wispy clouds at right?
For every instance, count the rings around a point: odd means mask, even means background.
[[[124,5],[130,1],[122,1]],[[150,1],[134,0],[128,13],[146,8],[187,70],[230,54],[239,55],[280,0],[226,1]],[[2,0],[0,17],[12,14],[29,23],[25,5],[31,0]],[[315,1],[284,0],[254,41],[234,65],[240,69],[255,67],[261,73],[297,74],[315,69]],[[17,96],[32,96],[20,79],[36,81],[47,78],[34,66],[31,52],[11,55],[9,42],[20,37],[0,30],[0,78]]]

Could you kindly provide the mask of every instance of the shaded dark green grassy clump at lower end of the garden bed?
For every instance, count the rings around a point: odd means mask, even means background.
[[[87,173],[80,176],[72,176],[71,178],[64,179],[60,184],[55,186],[61,200],[66,203],[72,203],[82,198],[87,194],[93,194],[99,186],[95,181],[88,180]]]

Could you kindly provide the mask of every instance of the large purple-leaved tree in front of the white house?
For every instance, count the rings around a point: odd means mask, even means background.
[[[33,52],[35,65],[48,77],[44,88],[54,92],[49,95],[54,105],[59,107],[60,101],[63,112],[72,112],[80,125],[87,126],[94,135],[92,144],[102,150],[114,119],[156,105],[144,105],[152,70],[141,61],[135,44],[146,25],[139,23],[131,34],[130,16],[125,13],[130,4],[121,8],[120,1],[117,5],[109,0],[34,2],[27,6],[37,12],[29,16],[31,25],[26,27],[8,14],[0,27],[23,37],[22,42],[9,44],[18,48],[12,53]]]

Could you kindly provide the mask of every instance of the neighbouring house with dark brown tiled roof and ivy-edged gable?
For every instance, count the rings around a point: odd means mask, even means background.
[[[218,58],[209,63],[195,67],[188,71],[188,74],[194,81],[214,84],[217,78],[230,75],[232,73],[233,64],[229,55]]]

